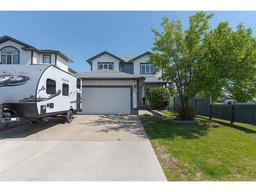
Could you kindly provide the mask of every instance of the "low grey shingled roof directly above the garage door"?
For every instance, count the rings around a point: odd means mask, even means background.
[[[139,77],[137,75],[132,75],[128,73],[123,73],[119,71],[114,71],[110,69],[99,69],[95,71],[83,72],[83,73],[76,73],[75,76],[81,79],[95,79],[95,80],[125,80],[125,79],[145,79],[144,77]]]

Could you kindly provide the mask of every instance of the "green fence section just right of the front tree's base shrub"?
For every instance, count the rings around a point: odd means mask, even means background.
[[[197,115],[202,115],[209,117],[210,116],[210,104],[211,104],[211,98],[199,98],[196,100],[196,110]]]

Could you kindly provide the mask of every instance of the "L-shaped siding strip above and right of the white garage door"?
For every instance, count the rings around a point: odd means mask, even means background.
[[[136,81],[82,81],[83,86],[133,86],[133,108],[137,108],[137,88],[134,89],[134,86],[137,86]]]

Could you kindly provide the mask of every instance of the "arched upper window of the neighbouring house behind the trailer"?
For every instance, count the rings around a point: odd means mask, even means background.
[[[1,59],[0,62],[3,64],[19,63],[19,51],[14,47],[6,47],[0,51]]]

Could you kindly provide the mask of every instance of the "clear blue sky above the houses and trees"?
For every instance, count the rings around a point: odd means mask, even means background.
[[[209,11],[210,25],[243,22],[256,34],[256,11]],[[163,16],[180,19],[184,29],[195,11],[0,11],[0,36],[9,35],[38,49],[59,50],[77,72],[90,71],[86,60],[102,51],[116,56],[138,56],[151,51]]]

